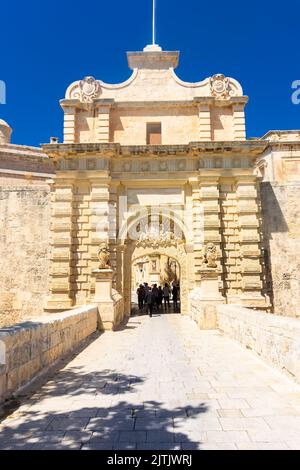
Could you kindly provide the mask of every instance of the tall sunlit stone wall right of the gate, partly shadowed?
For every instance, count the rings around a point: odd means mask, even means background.
[[[300,183],[260,188],[268,294],[276,314],[300,316]]]

